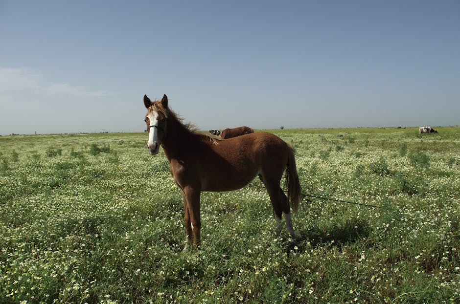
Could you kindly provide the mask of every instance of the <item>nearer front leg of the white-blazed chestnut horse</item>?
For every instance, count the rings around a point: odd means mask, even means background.
[[[185,224],[187,228],[187,238],[190,236],[189,228],[190,225],[193,238],[195,240],[195,247],[198,248],[200,245],[200,229],[201,229],[201,217],[200,217],[200,190],[195,187],[186,186],[184,187],[184,209],[188,211],[188,223]],[[185,205],[186,201],[186,205]],[[184,215],[185,220],[185,215]]]

